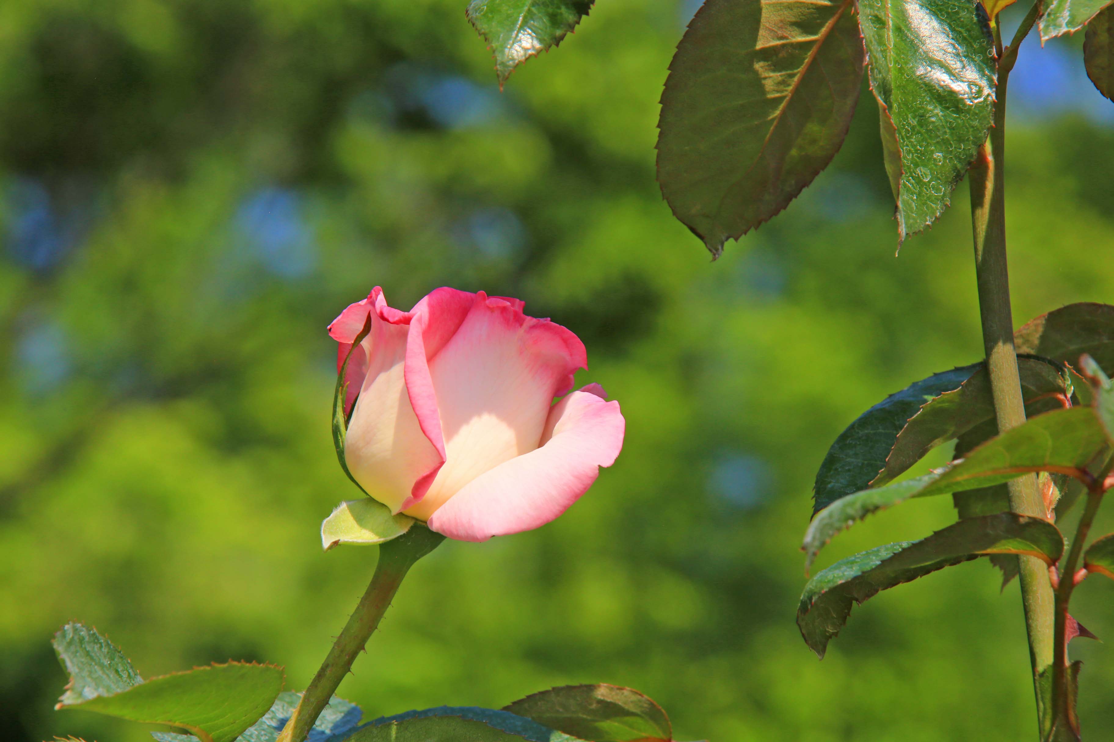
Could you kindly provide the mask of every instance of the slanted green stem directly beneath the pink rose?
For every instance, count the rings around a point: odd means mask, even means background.
[[[429,554],[444,541],[444,536],[423,525],[414,524],[403,535],[379,546],[379,563],[371,583],[360,598],[359,605],[344,624],[341,635],[333,642],[329,656],[313,676],[310,686],[293,715],[283,728],[277,742],[304,742],[317,716],[352,667],[356,655],[363,651],[368,640],[387,613],[391,598],[398,592],[402,578],[418,560]]]

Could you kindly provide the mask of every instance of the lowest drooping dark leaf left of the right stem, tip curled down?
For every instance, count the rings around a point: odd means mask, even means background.
[[[998,513],[960,521],[927,538],[878,546],[818,573],[804,587],[797,624],[805,643],[823,657],[856,603],[952,564],[984,554],[1028,554],[1054,564],[1064,540],[1040,518]]]

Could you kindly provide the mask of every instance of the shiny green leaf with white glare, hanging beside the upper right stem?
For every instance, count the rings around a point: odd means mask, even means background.
[[[860,0],[870,87],[897,130],[900,239],[947,208],[994,119],[989,29],[970,0]]]

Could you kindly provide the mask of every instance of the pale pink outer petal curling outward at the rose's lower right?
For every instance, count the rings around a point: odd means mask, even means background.
[[[610,466],[623,447],[617,402],[574,392],[553,407],[551,437],[472,479],[429,518],[459,541],[486,541],[537,528],[564,513]]]

